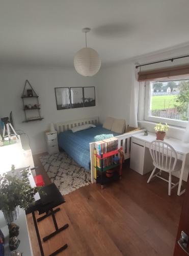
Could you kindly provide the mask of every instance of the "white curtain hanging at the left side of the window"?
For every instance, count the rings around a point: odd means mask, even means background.
[[[138,70],[135,65],[132,65],[132,83],[131,83],[131,97],[130,97],[130,113],[129,113],[129,126],[138,127],[138,105],[139,105],[139,82]]]

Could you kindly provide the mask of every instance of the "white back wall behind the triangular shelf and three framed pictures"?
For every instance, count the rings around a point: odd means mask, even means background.
[[[21,95],[25,80],[28,79],[40,96],[42,121],[23,123],[24,111]],[[79,109],[57,110],[55,87],[95,86],[94,77],[83,77],[74,69],[60,68],[1,68],[0,69],[0,117],[8,116],[13,111],[16,129],[29,135],[33,154],[46,152],[44,131],[49,123],[61,122],[91,116],[97,116],[96,106]]]

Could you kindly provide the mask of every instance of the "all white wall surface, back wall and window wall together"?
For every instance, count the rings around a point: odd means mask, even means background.
[[[8,116],[13,111],[16,129],[23,130],[31,140],[33,154],[46,151],[43,132],[48,129],[50,122],[61,122],[91,116],[100,116],[103,121],[106,116],[124,118],[128,124],[130,109],[130,94],[133,79],[133,63],[157,61],[175,56],[182,56],[189,52],[189,47],[170,50],[141,57],[136,60],[115,63],[109,67],[102,67],[94,77],[78,75],[74,69],[61,68],[1,68],[0,69],[0,117]],[[160,68],[171,65],[188,63],[189,58],[172,62],[164,62],[149,68]],[[144,68],[143,68],[144,69]],[[145,68],[147,69],[147,67]],[[24,112],[20,98],[25,79],[28,79],[37,94],[41,104],[42,121],[22,123]],[[55,87],[85,87],[95,86],[96,106],[90,108],[57,110]],[[151,125],[141,124],[151,130]],[[181,132],[183,134],[183,131]],[[174,136],[175,130],[170,136]],[[180,136],[180,132],[176,137]]]

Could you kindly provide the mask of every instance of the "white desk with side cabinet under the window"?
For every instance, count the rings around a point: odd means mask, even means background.
[[[148,136],[145,136],[144,132],[133,135],[131,138],[130,168],[136,170],[136,172],[140,173],[141,175],[151,172],[153,169],[149,145],[151,141],[155,139],[155,133],[149,133]],[[177,195],[180,196],[185,191],[185,189],[181,191],[182,180],[187,181],[188,176],[189,143],[183,143],[181,140],[171,137],[165,137],[165,142],[169,143],[175,149],[177,158],[182,161],[181,175],[177,192]]]

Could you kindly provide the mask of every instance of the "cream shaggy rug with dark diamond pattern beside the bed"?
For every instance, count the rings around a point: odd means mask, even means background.
[[[42,156],[40,161],[51,182],[56,184],[62,195],[91,183],[91,174],[65,152]]]

